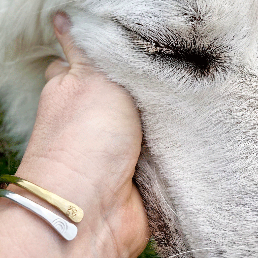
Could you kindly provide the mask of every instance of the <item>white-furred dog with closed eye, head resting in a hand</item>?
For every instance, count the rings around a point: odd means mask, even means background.
[[[134,183],[161,257],[258,257],[258,2],[2,0],[5,134],[24,151],[44,72],[76,45],[123,85],[144,132]]]

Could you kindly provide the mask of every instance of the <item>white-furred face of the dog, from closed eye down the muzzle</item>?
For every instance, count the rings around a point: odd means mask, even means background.
[[[173,210],[152,207],[174,218],[165,223],[154,216],[153,231],[168,246],[161,253],[199,249],[181,257],[256,257],[257,3],[78,4],[80,14],[68,11],[72,34],[134,96],[155,170],[151,176],[166,185],[154,179],[149,185]],[[162,223],[170,233],[157,226]]]

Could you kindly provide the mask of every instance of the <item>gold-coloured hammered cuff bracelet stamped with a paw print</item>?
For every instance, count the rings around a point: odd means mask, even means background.
[[[15,184],[23,189],[30,191],[31,193],[57,207],[74,222],[80,222],[83,218],[83,210],[74,203],[63,199],[60,196],[37,186],[36,184],[19,178],[18,176],[2,175],[0,176],[0,182]]]

